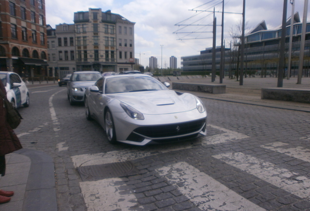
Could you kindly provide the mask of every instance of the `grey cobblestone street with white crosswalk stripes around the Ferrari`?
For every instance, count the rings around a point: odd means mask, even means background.
[[[202,97],[206,137],[136,147],[109,144],[65,88],[31,92],[16,133],[53,158],[58,211],[310,210],[309,112]]]

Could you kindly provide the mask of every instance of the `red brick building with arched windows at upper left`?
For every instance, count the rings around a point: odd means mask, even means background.
[[[45,76],[47,70],[44,0],[0,1],[0,70]]]

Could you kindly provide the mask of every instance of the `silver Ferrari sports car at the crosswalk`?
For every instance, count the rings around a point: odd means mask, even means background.
[[[170,90],[144,75],[112,75],[85,91],[85,115],[106,131],[109,142],[166,143],[206,135],[207,111],[200,99]]]

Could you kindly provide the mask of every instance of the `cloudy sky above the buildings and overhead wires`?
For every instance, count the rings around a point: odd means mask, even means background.
[[[225,0],[224,39],[230,42],[230,31],[242,21],[243,0]],[[213,11],[217,25],[222,21],[222,0],[46,0],[46,23],[53,28],[59,23],[73,23],[73,14],[101,8],[120,14],[135,24],[135,57],[144,66],[149,58],[157,58],[158,67],[169,67],[169,58],[200,54],[212,47]],[[291,17],[288,0],[287,17]],[[304,0],[295,0],[295,12],[302,21]],[[308,9],[308,13],[309,13]],[[282,24],[283,0],[246,0],[247,28],[252,29],[265,20],[268,29]],[[308,14],[309,16],[309,14]],[[308,18],[309,19],[309,18]],[[217,26],[216,45],[220,46],[221,27]],[[161,46],[162,45],[162,46]],[[162,56],[161,56],[162,55]]]

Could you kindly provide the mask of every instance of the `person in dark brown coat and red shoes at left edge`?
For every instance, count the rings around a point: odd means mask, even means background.
[[[6,98],[5,87],[0,80],[0,92],[4,93]],[[21,149],[19,138],[9,126],[6,119],[6,109],[3,104],[3,99],[0,97],[0,175],[5,175],[5,155],[13,151]],[[0,190],[0,204],[9,202],[10,196],[13,196],[13,191]]]

